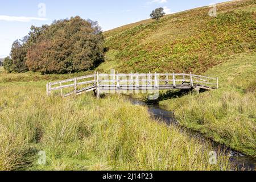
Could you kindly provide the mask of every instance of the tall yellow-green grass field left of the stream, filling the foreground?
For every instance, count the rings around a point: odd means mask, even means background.
[[[1,170],[229,169],[225,155],[208,163],[207,140],[154,121],[146,107],[122,96],[47,97],[46,76],[23,82],[31,74],[7,82],[11,75],[0,73]],[[46,165],[38,164],[39,151]]]

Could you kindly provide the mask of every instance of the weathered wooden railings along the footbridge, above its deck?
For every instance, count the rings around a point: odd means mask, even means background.
[[[165,78],[160,78],[163,76]],[[182,76],[182,78],[177,78],[178,76]],[[108,77],[108,79],[103,80],[102,77],[105,77],[105,78]],[[128,79],[122,80],[121,77],[128,77]],[[147,78],[145,79],[144,77],[147,77]],[[93,78],[93,80],[81,81],[88,78]],[[210,80],[216,81],[216,82],[210,82]],[[73,83],[67,84],[69,82],[73,82]],[[76,94],[77,86],[81,86],[81,85],[87,85],[87,87],[83,88],[82,90],[86,90],[86,88],[92,90],[93,86],[95,87],[105,86],[104,84],[103,85],[100,84],[100,82],[101,83],[111,82],[112,85],[116,84],[117,87],[120,86],[122,82],[129,82],[132,84],[136,84],[135,86],[138,86],[139,82],[151,82],[151,83],[154,82],[155,86],[158,86],[159,82],[164,82],[164,85],[168,85],[168,83],[172,83],[172,86],[174,86],[174,88],[176,87],[176,84],[178,82],[182,82],[182,84],[187,83],[188,85],[191,86],[191,88],[195,87],[196,85],[196,86],[205,87],[209,89],[218,89],[218,78],[201,76],[201,75],[193,75],[192,73],[189,73],[189,74],[187,73],[128,73],[128,74],[100,73],[99,74],[95,72],[94,75],[87,75],[87,76],[81,76],[76,78],[70,78],[67,80],[49,82],[47,83],[47,95],[51,94],[51,91],[61,90],[61,96],[63,96],[64,88],[74,88],[75,90],[72,93]],[[88,84],[93,84],[93,85],[88,86]],[[67,95],[69,96],[72,93],[69,93]]]

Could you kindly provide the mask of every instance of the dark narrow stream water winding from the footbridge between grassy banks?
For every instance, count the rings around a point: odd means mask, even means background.
[[[174,113],[172,113],[171,111],[167,111],[166,109],[160,107],[158,104],[146,104],[143,101],[137,100],[136,98],[133,97],[127,97],[127,99],[133,104],[133,105],[143,105],[143,106],[147,106],[148,107],[148,111],[152,114],[152,117],[154,117],[155,119],[157,119],[160,122],[165,122],[167,123],[167,125],[179,125],[179,122],[177,122],[175,120],[174,117]],[[203,134],[200,134],[196,131],[192,131],[189,129],[185,129],[183,127],[184,130],[187,130],[188,133],[191,134],[191,136],[200,136],[201,138],[205,138],[203,136]],[[209,139],[207,139],[209,140]],[[218,144],[216,142],[212,141],[212,145],[214,147],[216,147],[216,151],[218,150],[222,150],[223,152],[225,152],[225,154],[230,156],[230,164],[232,164],[232,166],[236,166],[236,169],[234,170],[246,170],[246,171],[251,171],[251,170],[255,170],[256,167],[256,160],[251,159],[249,156],[245,156],[242,155],[240,152],[237,151],[233,151],[230,150],[230,148],[223,146],[221,144]]]

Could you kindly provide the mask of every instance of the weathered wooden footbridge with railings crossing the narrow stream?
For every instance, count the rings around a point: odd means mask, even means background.
[[[81,76],[68,80],[49,82],[47,95],[60,93],[61,97],[94,92],[101,93],[152,93],[171,89],[218,89],[218,78],[193,75],[192,73],[111,73]]]

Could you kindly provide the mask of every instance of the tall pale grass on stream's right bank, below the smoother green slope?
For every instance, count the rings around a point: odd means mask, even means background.
[[[165,104],[163,102],[163,104]],[[255,154],[256,100],[253,93],[208,92],[168,104],[182,125],[213,137],[237,151]]]

